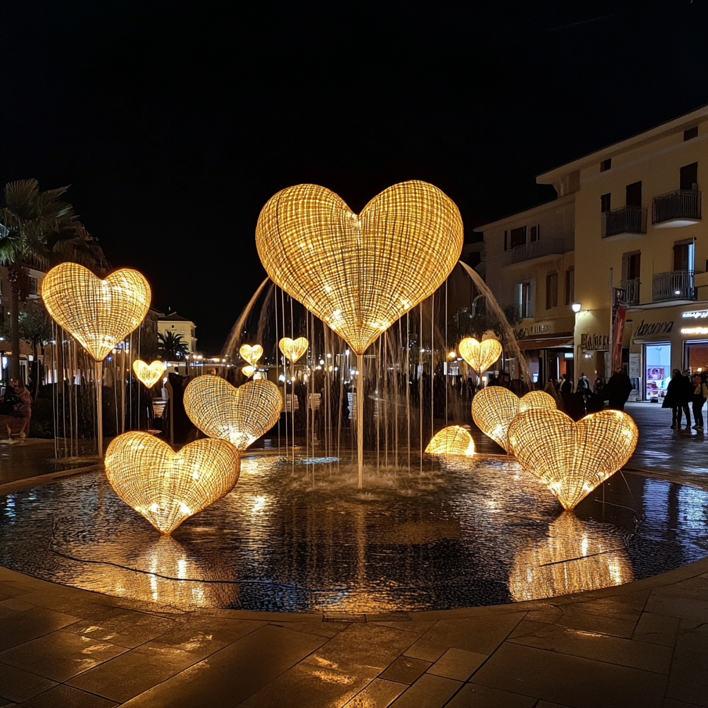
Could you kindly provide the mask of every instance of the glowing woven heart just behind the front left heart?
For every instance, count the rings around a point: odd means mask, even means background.
[[[184,392],[184,407],[195,426],[210,438],[229,440],[238,450],[273,428],[280,417],[278,387],[266,379],[239,388],[218,376],[198,376]]]

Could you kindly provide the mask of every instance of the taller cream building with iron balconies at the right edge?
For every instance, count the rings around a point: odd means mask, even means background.
[[[661,398],[674,368],[708,369],[707,181],[708,106],[537,178],[574,201],[576,372],[610,375],[612,286],[638,398]]]

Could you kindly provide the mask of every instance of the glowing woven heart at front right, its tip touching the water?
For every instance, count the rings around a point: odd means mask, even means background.
[[[561,411],[530,409],[509,426],[522,467],[572,509],[632,457],[639,431],[622,411],[590,413],[577,423]]]

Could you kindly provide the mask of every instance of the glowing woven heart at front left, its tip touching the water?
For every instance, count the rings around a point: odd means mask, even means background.
[[[114,438],[105,474],[115,493],[162,533],[234,489],[240,459],[225,440],[195,440],[179,452],[147,433]]]

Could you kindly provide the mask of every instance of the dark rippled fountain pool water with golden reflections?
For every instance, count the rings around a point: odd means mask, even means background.
[[[358,490],[349,458],[246,458],[173,537],[86,473],[0,500],[0,564],[178,607],[389,612],[612,586],[708,554],[700,489],[617,474],[573,515],[506,457],[412,462],[370,459]]]

